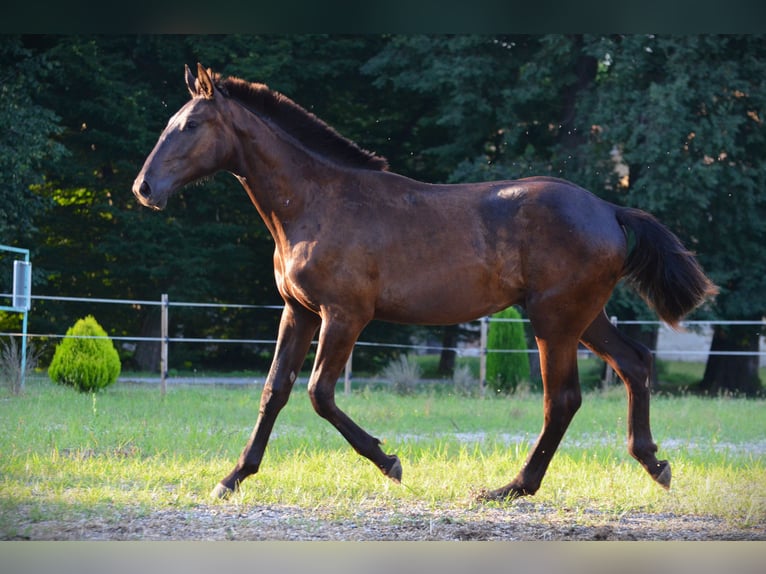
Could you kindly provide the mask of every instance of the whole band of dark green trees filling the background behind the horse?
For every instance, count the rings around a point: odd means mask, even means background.
[[[722,288],[699,316],[766,312],[763,36],[5,36],[0,52],[10,126],[0,135],[0,233],[33,249],[38,294],[279,302],[271,239],[232,178],[183,190],[161,214],[130,193],[188,97],[183,64],[200,61],[286,93],[410,177],[555,175],[647,209]],[[627,290],[609,310],[652,318]],[[61,331],[88,312],[37,302],[30,321]],[[99,321],[113,335],[148,335],[154,312],[104,309]],[[276,321],[173,315],[187,336],[266,336]],[[414,331],[369,330],[390,341]],[[719,327],[713,347],[757,349],[758,337]],[[174,355],[200,360],[199,348]],[[209,355],[230,366],[262,360],[257,349]],[[151,345],[132,359],[157,364]],[[702,386],[755,390],[757,359],[711,356]]]

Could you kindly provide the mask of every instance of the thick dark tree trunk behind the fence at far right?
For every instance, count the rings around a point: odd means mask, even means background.
[[[759,325],[716,325],[710,351],[757,353],[760,336]],[[709,395],[727,391],[757,394],[762,388],[758,355],[709,355],[699,388]]]

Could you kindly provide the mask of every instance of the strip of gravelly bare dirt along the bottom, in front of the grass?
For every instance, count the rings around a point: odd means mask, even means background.
[[[766,540],[766,524],[747,528],[709,517],[586,514],[516,501],[505,508],[410,506],[392,512],[359,508],[352,518],[332,509],[201,504],[101,519],[40,520],[18,516],[15,540],[250,541],[540,541]]]

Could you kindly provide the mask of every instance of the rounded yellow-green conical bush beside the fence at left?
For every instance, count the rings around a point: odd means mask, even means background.
[[[93,392],[114,383],[120,368],[120,357],[111,339],[88,315],[70,327],[56,346],[48,376],[55,383]]]

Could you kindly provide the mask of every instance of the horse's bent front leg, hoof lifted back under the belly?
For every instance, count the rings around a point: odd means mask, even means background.
[[[402,478],[402,465],[396,455],[387,455],[380,441],[365,432],[335,404],[335,385],[366,322],[325,317],[319,333],[316,362],[309,381],[309,396],[314,410],[338,429],[351,446],[372,461],[395,482]]]

